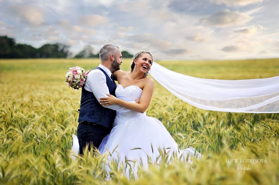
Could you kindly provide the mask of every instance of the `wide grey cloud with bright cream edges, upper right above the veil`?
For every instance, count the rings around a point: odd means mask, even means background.
[[[228,9],[216,11],[212,15],[200,19],[200,23],[205,26],[227,27],[243,24],[251,20],[252,17],[238,11]]]

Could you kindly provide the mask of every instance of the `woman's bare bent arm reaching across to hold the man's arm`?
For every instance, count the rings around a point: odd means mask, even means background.
[[[147,78],[146,80],[147,83],[144,85],[139,103],[124,101],[110,94],[108,94],[108,97],[100,98],[99,102],[101,102],[101,105],[104,107],[117,104],[131,111],[144,113],[151,101],[154,90],[154,80],[152,78]]]

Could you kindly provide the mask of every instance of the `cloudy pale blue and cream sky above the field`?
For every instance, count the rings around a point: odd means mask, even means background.
[[[0,0],[0,35],[153,60],[279,57],[279,0]]]

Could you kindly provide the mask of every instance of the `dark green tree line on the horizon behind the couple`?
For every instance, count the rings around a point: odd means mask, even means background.
[[[44,44],[40,48],[34,48],[27,44],[18,44],[14,38],[0,36],[0,58],[70,58],[72,53],[70,46],[61,43]],[[127,51],[122,51],[123,58],[133,57]],[[99,52],[93,53],[90,45],[85,46],[73,58],[99,58]]]

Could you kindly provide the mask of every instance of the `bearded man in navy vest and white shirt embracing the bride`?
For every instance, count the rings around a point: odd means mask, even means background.
[[[78,118],[79,153],[83,155],[86,145],[99,148],[102,140],[112,128],[116,111],[128,112],[119,105],[103,107],[99,100],[107,97],[107,93],[115,96],[117,85],[112,72],[120,69],[122,54],[119,47],[111,44],[100,49],[101,64],[87,74],[85,85],[82,87],[80,112]]]

